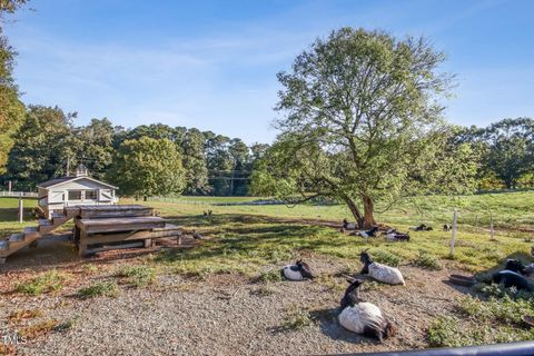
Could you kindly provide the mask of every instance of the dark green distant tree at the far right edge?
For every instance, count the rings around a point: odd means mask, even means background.
[[[517,188],[517,181],[534,169],[534,120],[504,119],[481,131],[487,145],[485,162],[506,185]]]

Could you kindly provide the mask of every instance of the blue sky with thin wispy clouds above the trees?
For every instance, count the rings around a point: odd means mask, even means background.
[[[27,103],[135,127],[197,127],[270,142],[276,73],[352,26],[426,36],[457,75],[446,117],[534,117],[534,1],[32,0],[6,32]]]

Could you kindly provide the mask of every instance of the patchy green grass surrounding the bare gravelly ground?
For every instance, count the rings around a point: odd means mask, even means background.
[[[369,248],[369,253],[377,261],[399,266],[408,273],[412,280],[408,280],[408,284],[413,288],[409,289],[411,294],[433,298],[435,291],[425,291],[426,287],[432,289],[428,287],[431,283],[439,281],[438,288],[453,291],[451,287],[441,283],[448,273],[475,273],[483,276],[485,271],[502,265],[510,257],[531,261],[530,250],[534,238],[534,191],[455,198],[421,197],[402,201],[393,209],[377,214],[379,222],[400,230],[407,230],[409,226],[421,222],[434,226],[433,231],[412,231],[409,243],[389,243],[382,237],[363,239],[328,226],[326,221],[340,225],[343,218],[349,218],[348,210],[340,205],[309,204],[296,207],[224,205],[257,198],[180,199],[184,200],[137,202],[150,205],[171,222],[189,231],[195,229],[208,237],[209,239],[204,240],[200,246],[190,249],[164,249],[145,255],[129,260],[130,267],[122,266],[120,260],[111,264],[99,264],[97,260],[80,264],[79,267],[57,266],[58,271],[44,268],[37,277],[33,276],[34,271],[28,270],[32,275],[31,278],[20,277],[21,280],[18,280],[18,277],[12,277],[9,285],[13,293],[24,294],[24,290],[51,293],[55,295],[53,298],[59,294],[66,300],[72,295],[83,296],[81,299],[102,296],[121,298],[120,295],[126,293],[125,286],[155,288],[154,286],[158,286],[158,278],[164,276],[189,278],[191,285],[188,284],[187,288],[195,289],[202,288],[202,280],[206,278],[225,275],[240,276],[251,281],[259,280],[265,284],[265,287],[260,287],[260,294],[268,294],[271,293],[269,290],[273,288],[269,286],[273,284],[276,286],[274,290],[286,288],[286,285],[279,281],[279,266],[303,257],[312,265],[328,261],[329,271],[320,276],[316,283],[317,286],[329,290],[328,294],[336,299],[345,286],[338,273],[356,273],[360,268],[359,253]],[[184,202],[185,200],[187,202]],[[135,202],[131,199],[121,200],[121,204]],[[27,216],[23,224],[18,224],[16,222],[18,200],[0,199],[2,235],[20,231],[27,225],[36,225],[37,221],[32,221],[30,216],[34,204],[36,200],[24,201]],[[458,230],[455,254],[451,256],[451,233],[442,231],[441,226],[451,222],[454,209],[458,210]],[[204,211],[207,210],[212,210],[212,216],[205,217]],[[379,205],[377,210],[380,210]],[[497,229],[495,239],[491,239],[488,231],[492,217]],[[9,258],[6,268],[9,269]],[[81,275],[89,277],[90,283],[80,279]],[[435,278],[439,280],[434,280]],[[197,287],[191,287],[192,285]],[[416,285],[421,288],[428,286],[419,290]],[[534,313],[534,299],[523,294],[518,295],[514,290],[500,290],[493,287],[488,289],[483,286],[473,289],[471,296],[459,294],[465,298],[457,297],[458,291],[455,291],[456,297],[449,300],[449,304],[454,305],[453,309],[447,304],[447,307],[436,309],[437,314],[431,319],[413,326],[419,328],[419,332],[421,328],[424,329],[424,333],[422,332],[424,336],[418,336],[414,345],[455,346],[531,339],[533,335],[522,327],[521,317]],[[68,291],[62,291],[63,287]],[[386,287],[380,288],[383,289],[377,290],[386,290],[384,289]],[[287,293],[281,289],[277,293]],[[390,303],[388,294],[369,293],[369,296],[386,306]],[[409,297],[404,296],[407,300]],[[510,317],[505,317],[508,314]],[[484,323],[476,323],[477,319]],[[317,329],[317,333],[319,332],[320,329]],[[409,345],[396,344],[394,347],[406,348]]]

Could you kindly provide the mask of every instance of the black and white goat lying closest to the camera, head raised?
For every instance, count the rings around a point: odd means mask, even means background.
[[[350,283],[350,280],[348,281]],[[376,305],[359,299],[358,287],[363,283],[363,280],[356,279],[345,290],[338,320],[347,330],[375,337],[382,343],[397,334],[397,325],[384,317]]]

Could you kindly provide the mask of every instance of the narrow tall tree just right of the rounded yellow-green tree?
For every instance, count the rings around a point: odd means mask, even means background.
[[[210,190],[204,141],[202,132],[197,129],[189,129],[180,144],[186,174],[186,194],[202,195]]]

